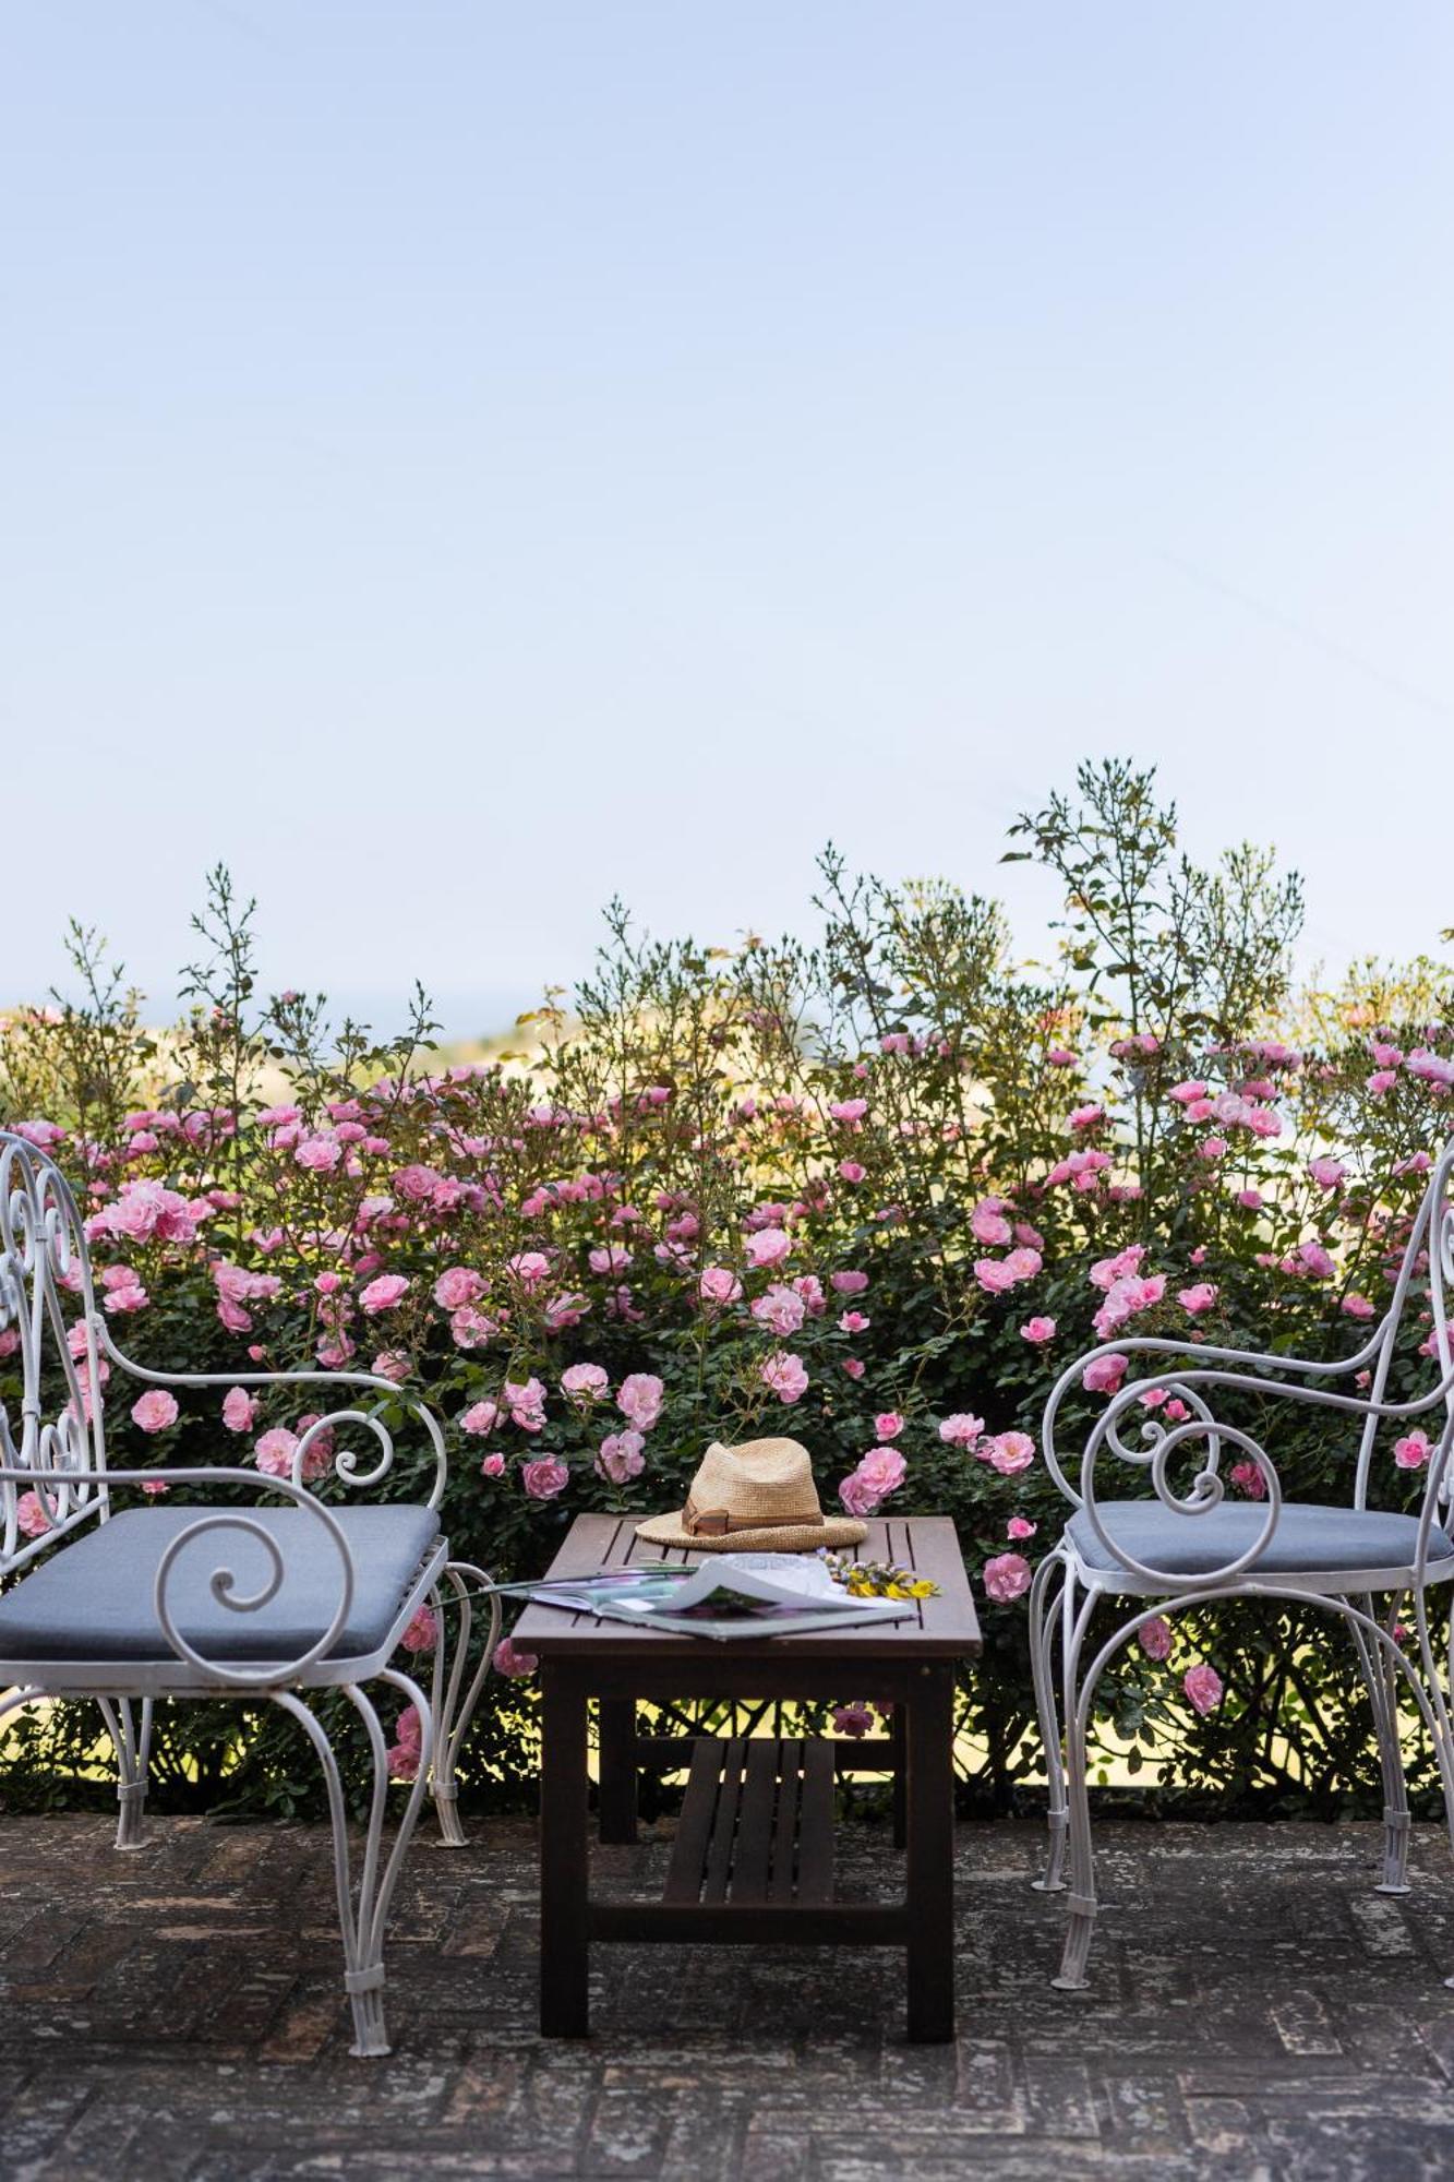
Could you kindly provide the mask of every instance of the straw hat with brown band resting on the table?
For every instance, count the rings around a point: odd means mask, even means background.
[[[808,1449],[797,1440],[747,1440],[701,1458],[677,1514],[635,1525],[651,1545],[690,1545],[703,1554],[814,1554],[821,1545],[862,1545],[865,1523],[823,1514]]]

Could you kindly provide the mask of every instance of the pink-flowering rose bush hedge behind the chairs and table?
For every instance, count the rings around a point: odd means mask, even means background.
[[[613,908],[572,1006],[456,1065],[432,1060],[424,995],[389,1041],[330,1030],[319,997],[262,1002],[251,906],[214,873],[183,1021],[148,1032],[74,934],[85,997],[4,1023],[0,1111],[76,1183],[122,1346],[164,1368],[362,1364],[426,1394],[450,1536],[500,1573],[539,1571],[585,1508],[679,1506],[725,1436],[801,1438],[825,1506],[950,1512],[989,1634],[967,1796],[1004,1805],[1037,1770],[1030,1556],[1065,1514],[1046,1392],[1118,1333],[1356,1346],[1454,1084],[1443,973],[1295,991],[1297,882],[1251,849],[1192,866],[1151,775],[1083,768],[1015,840],[1063,882],[1048,969],[1015,960],[993,903],[851,879],[830,851],[817,945],[653,943]],[[1428,1383],[1421,1344],[1415,1314],[1399,1388]],[[1100,1357],[1074,1416],[1122,1377]],[[297,1407],[144,1394],[109,1412],[114,1460],[282,1471],[330,1403]],[[1389,1506],[1419,1488],[1417,1440],[1386,1449]],[[319,1436],[310,1473],[334,1453]],[[1349,1490],[1316,1416],[1290,1416],[1277,1464],[1284,1490]],[[415,1482],[400,1462],[386,1490]],[[1233,1490],[1264,1490],[1255,1464]],[[493,1685],[467,1757],[496,1798],[533,1772],[524,1687]],[[1351,1652],[1295,1612],[1148,1623],[1107,1711],[1131,1772],[1155,1752],[1166,1785],[1223,1802],[1369,1787]],[[83,1715],[13,1730],[20,1787],[41,1757],[81,1763]],[[238,1737],[231,1711],[168,1717],[159,1772],[210,1802],[308,1791],[286,1728]]]

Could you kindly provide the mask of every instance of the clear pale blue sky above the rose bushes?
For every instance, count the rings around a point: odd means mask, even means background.
[[[0,999],[454,1034],[1076,762],[1454,925],[1454,11],[0,0]]]

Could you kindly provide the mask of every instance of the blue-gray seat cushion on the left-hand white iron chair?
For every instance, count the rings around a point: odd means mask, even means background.
[[[266,1588],[269,1556],[227,1525],[183,1547],[168,1575],[172,1621],[205,1658],[290,1661],[338,1612],[343,1564],[306,1508],[127,1508],[39,1560],[0,1597],[0,1658],[175,1661],[153,1604],[170,1540],[205,1514],[247,1514],[275,1540],[284,1580],[258,1612],[212,1597],[212,1571],[231,1569],[240,1597]],[[330,1508],[354,1560],[354,1604],[330,1658],[360,1658],[386,1643],[404,1593],[439,1536],[432,1508]]]

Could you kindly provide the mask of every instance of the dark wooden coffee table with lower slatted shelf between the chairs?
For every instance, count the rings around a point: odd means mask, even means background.
[[[943,1516],[869,1523],[865,1560],[893,1560],[939,1584],[913,1621],[819,1636],[712,1643],[664,1636],[531,1602],[513,1641],[541,1680],[539,2027],[585,2038],[592,1940],[902,1946],[908,2036],[954,2036],[954,1663],[978,1658],[980,1626],[954,1525]],[[633,1521],[583,1514],[550,1575],[681,1558],[640,1545]],[[587,1704],[600,1706],[600,1839],[635,1837],[637,1770],[690,1774],[662,1901],[592,1901]],[[637,1704],[672,1700],[867,1698],[893,1728],[862,1741],[637,1735]],[[904,1898],[834,1898],[834,1781],[893,1772]]]

